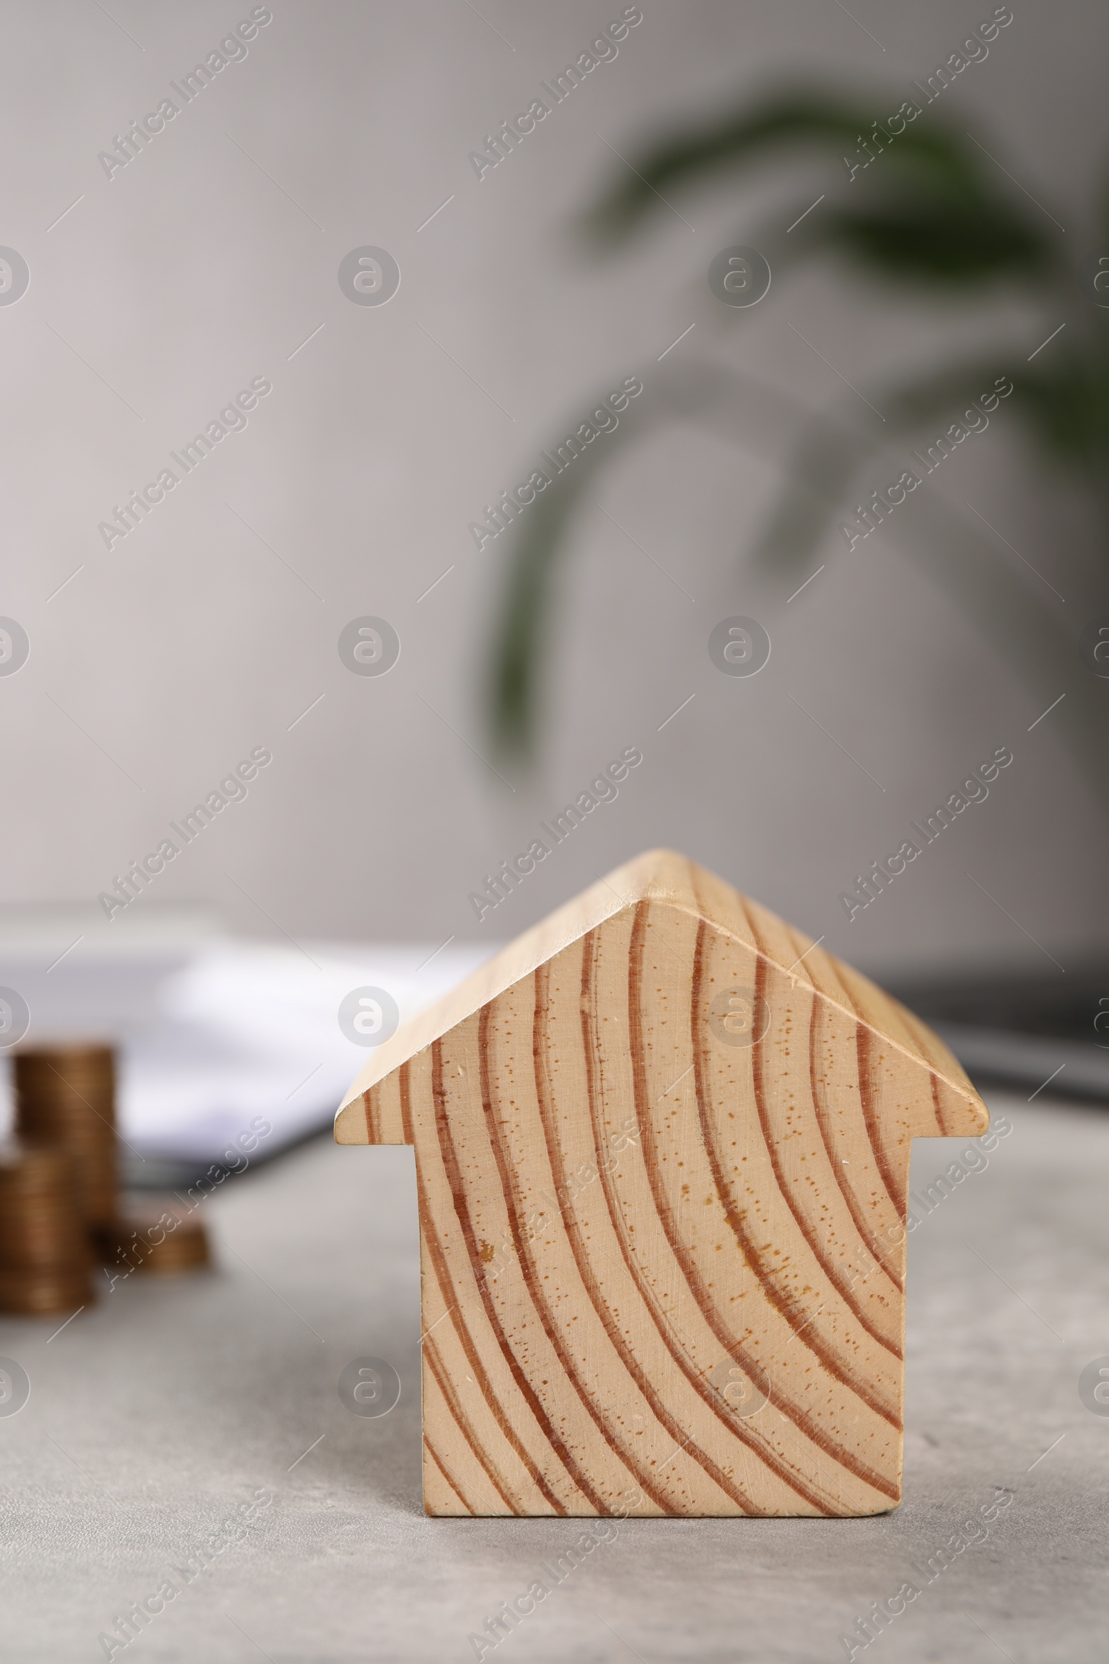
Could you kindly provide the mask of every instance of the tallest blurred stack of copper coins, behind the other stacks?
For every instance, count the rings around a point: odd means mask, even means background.
[[[15,1130],[25,1143],[71,1153],[78,1210],[86,1225],[113,1218],[115,1060],[110,1047],[17,1052]]]

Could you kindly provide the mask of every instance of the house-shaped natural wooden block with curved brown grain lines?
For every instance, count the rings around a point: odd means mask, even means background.
[[[336,1118],[416,1146],[427,1513],[893,1508],[909,1148],[986,1127],[918,1018],[720,879],[602,879]]]

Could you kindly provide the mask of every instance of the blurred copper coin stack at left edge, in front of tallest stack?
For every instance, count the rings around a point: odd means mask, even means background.
[[[0,1146],[0,1310],[47,1316],[93,1300],[73,1156]]]

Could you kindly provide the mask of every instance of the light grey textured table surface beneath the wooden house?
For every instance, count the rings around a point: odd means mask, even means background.
[[[1109,1115],[989,1097],[1013,1132],[909,1236],[901,1508],[609,1523],[485,1659],[843,1659],[998,1494],[855,1657],[1106,1659],[1109,1414],[1077,1383],[1109,1354]],[[959,1148],[918,1140],[913,1188]],[[0,1321],[32,1386],[0,1416],[0,1659],[477,1657],[471,1634],[587,1523],[422,1514],[412,1153],[321,1138],[205,1206],[213,1273],[105,1285],[60,1333]],[[366,1354],[402,1383],[381,1418],[336,1389]],[[166,1579],[178,1594],[113,1646]]]

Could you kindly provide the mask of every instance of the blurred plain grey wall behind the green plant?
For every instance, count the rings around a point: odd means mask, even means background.
[[[831,268],[720,306],[712,256],[815,196],[825,163],[682,193],[610,260],[567,233],[620,175],[615,151],[798,77],[873,90],[880,116],[979,13],[642,0],[619,55],[479,180],[469,153],[622,5],[273,0],[246,55],[185,103],[171,83],[251,10],[3,8],[0,243],[30,270],[0,306],[0,614],[30,639],[0,677],[3,900],[95,899],[261,747],[249,795],[148,897],[213,899],[278,940],[492,942],[667,844],[863,965],[1094,952],[1104,817],[1057,716],[1029,732],[1049,702],[1034,666],[981,639],[896,524],[851,554],[833,529],[825,571],[786,602],[793,584],[743,564],[785,458],[685,426],[625,446],[574,524],[535,775],[482,729],[507,537],[477,551],[469,522],[599,394],[638,376],[647,403],[688,354],[831,408],[843,379],[871,391],[994,326],[1024,339],[1011,301],[949,314]],[[948,110],[1094,245],[1109,17],[1013,10]],[[178,115],[108,176],[100,153],[166,97]],[[387,305],[339,286],[362,246],[399,266]],[[251,381],[271,391],[185,474],[170,453]],[[166,466],[175,489],[105,547],[98,524]],[[944,468],[923,489],[971,499],[1077,636],[1104,599],[1094,532],[1028,466],[1016,416]],[[1036,579],[1014,561],[1013,582]],[[732,614],[770,632],[757,677],[708,659]],[[387,676],[339,659],[362,616],[399,636]],[[1089,699],[1082,676],[1076,657],[1059,692]],[[848,924],[853,875],[1003,745],[989,800]],[[643,760],[620,795],[479,924],[469,892],[625,747]]]

